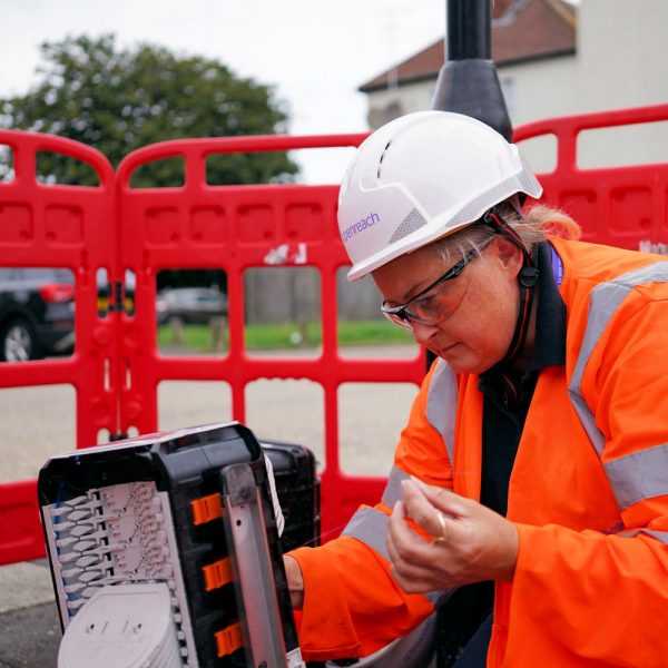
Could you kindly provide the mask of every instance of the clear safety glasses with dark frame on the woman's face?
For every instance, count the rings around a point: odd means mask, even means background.
[[[468,250],[462,259],[405,304],[389,306],[383,302],[381,312],[395,325],[406,330],[412,330],[413,323],[438,325],[443,322],[459,307],[469,285],[465,281],[454,278],[461,275],[471,261],[480,256],[490,242],[488,239],[484,245]]]

